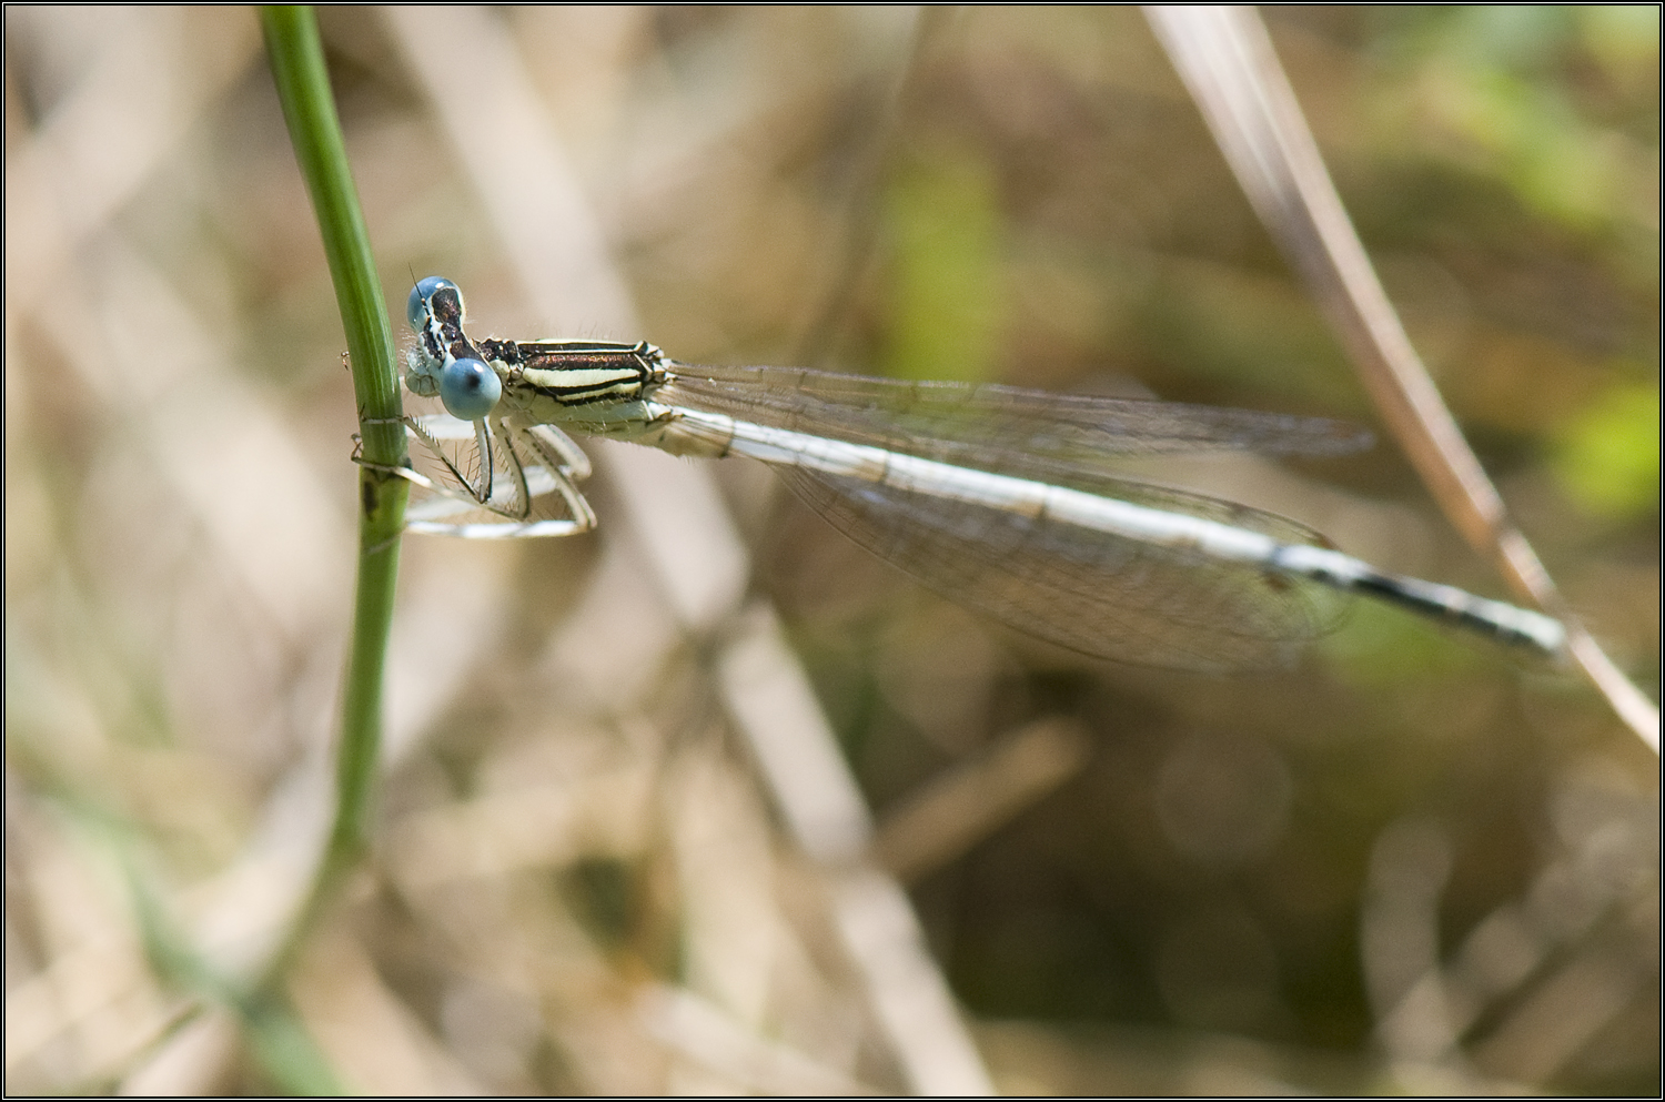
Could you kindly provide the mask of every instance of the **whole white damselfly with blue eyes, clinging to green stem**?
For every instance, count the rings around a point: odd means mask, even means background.
[[[566,431],[771,464],[816,513],[952,601],[1119,661],[1234,669],[1287,659],[1350,594],[1558,654],[1538,613],[1379,571],[1294,521],[1119,476],[1180,451],[1324,454],[1362,443],[1320,418],[957,383],[668,360],[646,341],[475,341],[430,276],[408,305],[406,418],[430,491],[410,531],[564,536],[593,528]],[[566,429],[566,431],[563,431]]]

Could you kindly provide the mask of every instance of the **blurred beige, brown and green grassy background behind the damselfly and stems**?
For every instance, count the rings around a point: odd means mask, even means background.
[[[1657,8],[1265,18],[1657,701]],[[320,20],[395,318],[446,275],[476,335],[1379,428],[1136,10]],[[255,967],[328,822],[358,473],[316,225],[251,12],[8,7],[5,52],[5,1084],[283,1089],[158,947]],[[613,451],[593,534],[405,543],[378,849],[288,985],[353,1090],[897,1092],[934,1052],[1027,1094],[1658,1089],[1658,761],[1575,676],[1365,604],[1292,669],[1112,666],[744,463],[666,534]],[[1141,473],[1508,598],[1392,443]],[[758,624],[862,856],[736,701]],[[927,952],[862,956],[851,867]]]

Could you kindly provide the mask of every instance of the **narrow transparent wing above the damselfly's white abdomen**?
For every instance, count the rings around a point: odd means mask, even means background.
[[[1355,424],[1252,410],[1089,398],[964,383],[904,383],[803,368],[671,365],[656,398],[736,419],[1059,481],[1129,456],[1184,451],[1344,454]]]

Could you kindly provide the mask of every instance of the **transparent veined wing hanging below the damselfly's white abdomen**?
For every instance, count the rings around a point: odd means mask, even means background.
[[[834,528],[929,589],[1096,658],[1212,673],[1287,666],[1304,643],[1340,623],[1349,603],[1312,581],[1054,519],[809,468],[776,471]],[[1179,489],[1111,478],[1071,486],[1280,543],[1324,543],[1280,516]]]

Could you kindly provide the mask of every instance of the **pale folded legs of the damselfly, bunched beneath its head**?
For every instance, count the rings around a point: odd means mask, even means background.
[[[416,488],[405,511],[410,531],[503,539],[594,528],[574,486],[589,463],[558,428],[470,423],[445,413],[410,416],[405,428],[411,443],[405,476]]]

